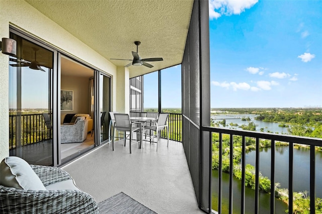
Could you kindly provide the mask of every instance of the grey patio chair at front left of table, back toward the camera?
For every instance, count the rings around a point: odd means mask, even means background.
[[[132,134],[133,132],[141,132],[141,123],[134,122],[132,123],[128,114],[114,114],[115,118],[115,126],[113,127],[112,134],[112,148],[114,151],[114,133],[115,129],[118,132],[124,132],[124,146],[126,146],[126,139],[129,137],[130,139],[130,153],[132,153],[131,142],[132,142]],[[126,136],[126,132],[130,132],[128,136]],[[140,144],[142,143],[142,139],[140,140]]]

